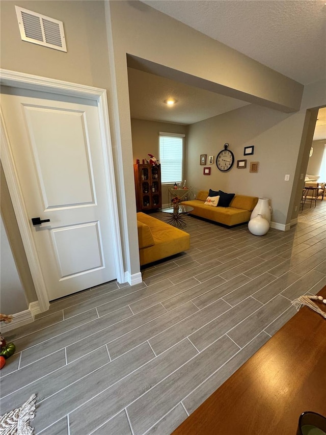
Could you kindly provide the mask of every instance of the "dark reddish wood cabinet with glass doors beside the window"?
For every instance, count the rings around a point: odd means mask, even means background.
[[[160,209],[162,207],[160,165],[135,164],[134,185],[138,211]]]

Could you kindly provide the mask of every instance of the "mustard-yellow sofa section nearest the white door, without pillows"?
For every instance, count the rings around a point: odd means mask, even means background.
[[[190,248],[190,236],[150,215],[137,213],[141,266],[178,254]]]

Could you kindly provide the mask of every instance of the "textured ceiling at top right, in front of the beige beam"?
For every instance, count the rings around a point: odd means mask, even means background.
[[[325,78],[325,0],[144,0],[307,85]]]

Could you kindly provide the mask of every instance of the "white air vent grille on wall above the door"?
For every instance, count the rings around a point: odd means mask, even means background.
[[[15,6],[22,41],[67,52],[63,22]]]

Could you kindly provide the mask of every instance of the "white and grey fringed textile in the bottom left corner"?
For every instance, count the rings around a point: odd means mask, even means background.
[[[0,435],[32,435],[29,423],[35,417],[35,404],[36,395],[32,394],[20,408],[0,417]]]

